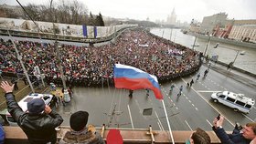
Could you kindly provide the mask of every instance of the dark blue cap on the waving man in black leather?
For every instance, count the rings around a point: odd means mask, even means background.
[[[45,101],[41,98],[34,98],[27,102],[27,110],[31,114],[39,114],[46,108]]]

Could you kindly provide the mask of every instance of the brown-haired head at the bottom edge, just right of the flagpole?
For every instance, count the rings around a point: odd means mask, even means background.
[[[210,144],[210,137],[206,131],[197,128],[191,137],[187,139],[186,144]]]

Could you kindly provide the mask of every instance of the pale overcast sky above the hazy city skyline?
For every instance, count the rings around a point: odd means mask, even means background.
[[[47,5],[50,0],[18,0],[22,5]],[[58,2],[59,0],[54,0]],[[68,0],[67,0],[68,1]],[[164,20],[173,8],[177,20],[202,21],[204,16],[225,12],[232,19],[256,19],[256,0],[78,0],[92,14],[115,18],[132,18],[150,21]],[[16,0],[0,0],[0,4],[18,5]]]

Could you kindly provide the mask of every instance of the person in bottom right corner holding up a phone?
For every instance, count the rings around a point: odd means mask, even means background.
[[[225,144],[250,144],[251,139],[256,138],[256,122],[247,123],[241,132],[233,132],[227,134],[222,128],[224,117],[214,118],[212,129],[220,139],[221,143]]]

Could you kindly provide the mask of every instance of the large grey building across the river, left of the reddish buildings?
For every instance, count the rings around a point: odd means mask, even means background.
[[[206,35],[212,35],[214,33],[214,28],[219,26],[224,28],[227,24],[228,15],[225,13],[219,13],[215,15],[205,16],[203,22],[200,26],[200,33]]]

